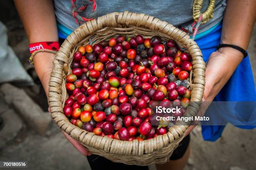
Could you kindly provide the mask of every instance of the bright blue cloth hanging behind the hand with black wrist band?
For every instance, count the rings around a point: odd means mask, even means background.
[[[208,35],[196,40],[202,50],[205,62],[209,59],[211,53],[217,50],[217,46],[220,43],[221,28],[222,24],[218,25]],[[249,57],[244,58],[238,65],[230,80],[220,90],[214,101],[256,101],[256,91]],[[244,112],[244,114],[248,113]],[[237,127],[243,129],[256,128],[254,125]],[[204,140],[215,141],[221,136],[224,128],[225,125],[204,125],[202,126],[202,136]]]

